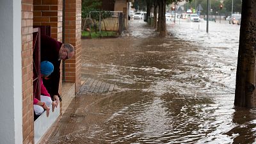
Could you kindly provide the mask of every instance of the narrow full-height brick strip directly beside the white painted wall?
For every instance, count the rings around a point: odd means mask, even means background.
[[[22,0],[22,130],[23,143],[34,143],[33,0]]]

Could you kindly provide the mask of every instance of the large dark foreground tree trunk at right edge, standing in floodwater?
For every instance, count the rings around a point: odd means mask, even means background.
[[[256,108],[256,0],[243,0],[236,72],[235,106]],[[255,102],[254,102],[255,101]]]

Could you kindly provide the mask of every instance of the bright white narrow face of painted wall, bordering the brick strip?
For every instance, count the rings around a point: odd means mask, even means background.
[[[15,143],[23,141],[22,136],[22,42],[21,42],[21,0],[13,0],[13,89]]]

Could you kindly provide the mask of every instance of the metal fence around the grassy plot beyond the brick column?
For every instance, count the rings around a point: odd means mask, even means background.
[[[82,31],[93,36],[117,36],[125,30],[125,16],[119,11],[90,12],[82,19]],[[83,36],[83,34],[82,34]]]

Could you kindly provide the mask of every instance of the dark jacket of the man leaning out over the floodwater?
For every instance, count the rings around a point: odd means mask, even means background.
[[[44,86],[50,93],[51,97],[53,95],[59,94],[59,83],[60,83],[60,63],[58,60],[61,42],[54,40],[50,36],[42,35],[40,38],[40,60],[50,61],[54,65],[54,70],[52,74],[48,77],[49,79],[44,79]]]

